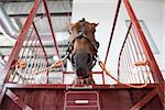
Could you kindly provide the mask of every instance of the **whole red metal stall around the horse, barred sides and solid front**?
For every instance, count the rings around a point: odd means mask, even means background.
[[[80,108],[86,110],[87,108],[90,108],[90,110],[164,109],[164,79],[129,0],[119,0],[118,2],[105,59],[106,65],[113,33],[117,30],[116,24],[119,20],[120,7],[123,4],[129,14],[130,26],[119,55],[117,80],[119,84],[106,84],[105,77],[110,73],[105,69],[105,72],[92,73],[92,75],[101,75],[102,84],[76,88],[64,84],[65,76],[73,75],[73,73],[64,72],[63,67],[59,67],[63,75],[62,84],[48,84],[48,70],[44,68],[50,63],[37,24],[34,22],[35,13],[41,3],[44,4],[46,13],[44,18],[48,22],[47,26],[52,34],[55,52],[59,57],[47,1],[35,0],[4,68],[6,80],[3,88],[0,90],[0,108],[2,110],[13,110],[13,108],[46,110],[70,110],[69,108],[72,110],[73,108],[75,108],[74,110],[80,110]],[[135,54],[138,52],[143,54]],[[132,73],[132,64],[140,73]],[[106,66],[102,67],[106,68]],[[41,70],[40,74],[43,78],[35,82],[38,70]],[[145,80],[147,74],[148,81]],[[147,85],[142,89],[132,88],[140,87],[145,81]]]

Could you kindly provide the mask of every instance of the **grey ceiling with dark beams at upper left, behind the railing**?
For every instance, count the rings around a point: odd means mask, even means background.
[[[68,30],[67,23],[70,22],[73,0],[47,0],[48,9],[51,13],[52,24],[54,32],[56,33],[56,40],[59,48],[61,56],[65,55],[65,51],[68,44]],[[0,4],[3,6],[12,23],[21,31],[26,18],[34,4],[34,0],[0,0]],[[47,52],[50,63],[53,62],[54,44],[48,26],[47,19],[45,18],[44,6],[41,4],[37,9],[34,23],[42,36],[43,44]],[[15,41],[2,34],[0,30],[0,53],[1,55],[9,55]]]

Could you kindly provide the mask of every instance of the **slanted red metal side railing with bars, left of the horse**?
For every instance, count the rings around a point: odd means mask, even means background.
[[[40,28],[36,26],[37,19],[35,18],[38,7],[43,3],[45,8],[46,16],[52,34],[52,41],[54,43],[55,51],[59,57],[57,43],[55,40],[55,33],[53,30],[51,14],[48,13],[46,0],[35,0],[34,6],[26,19],[26,22],[18,37],[18,41],[11,52],[9,62],[4,68],[6,82],[16,84],[47,84],[48,70],[45,68],[48,66],[47,53],[44,48],[43,41],[40,36]],[[45,69],[45,70],[42,70]],[[42,70],[40,79],[36,72]]]

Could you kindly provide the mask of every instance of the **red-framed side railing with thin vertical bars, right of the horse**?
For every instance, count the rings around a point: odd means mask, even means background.
[[[148,84],[163,82],[162,73],[129,0],[123,0],[123,4],[129,14],[130,28],[119,55],[119,80],[127,84],[144,84],[148,74]]]

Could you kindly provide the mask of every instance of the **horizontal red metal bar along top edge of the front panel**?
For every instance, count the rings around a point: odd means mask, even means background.
[[[134,86],[140,86],[141,84],[132,84]],[[72,86],[73,85],[61,85],[61,84],[57,84],[57,85],[52,85],[52,84],[29,84],[29,85],[25,85],[25,84],[6,84],[7,88],[20,88],[20,89],[28,89],[28,88],[32,88],[32,89],[72,89]],[[155,87],[157,87],[158,84],[150,84],[147,87],[145,88],[148,88],[148,89],[153,89]],[[133,89],[131,87],[128,87],[128,86],[124,86],[124,85],[95,85],[92,86],[92,88],[74,88],[73,89]],[[135,88],[134,88],[135,89]]]

